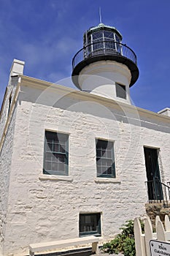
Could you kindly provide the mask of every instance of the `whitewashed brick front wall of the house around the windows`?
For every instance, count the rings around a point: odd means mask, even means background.
[[[145,214],[144,146],[160,148],[169,178],[170,119],[68,90],[21,86],[13,139],[4,255],[79,236],[79,214],[101,213],[103,241]],[[72,90],[70,90],[72,91]],[[45,129],[69,134],[69,176],[42,174]],[[96,178],[96,138],[115,142],[116,178]],[[7,142],[6,142],[7,143]]]

